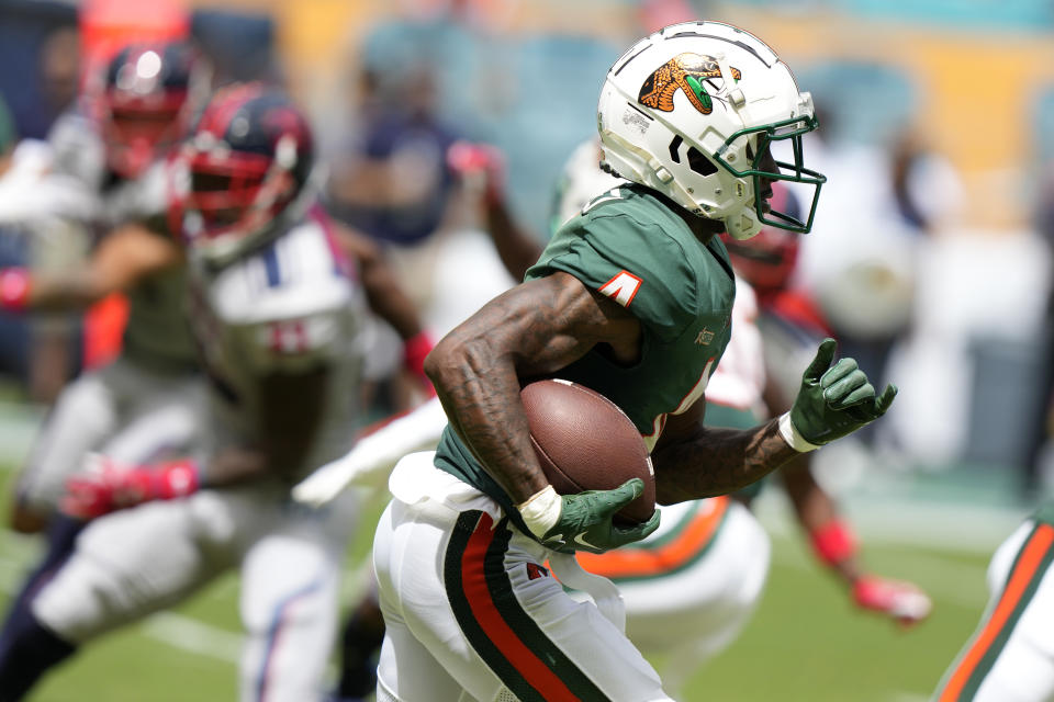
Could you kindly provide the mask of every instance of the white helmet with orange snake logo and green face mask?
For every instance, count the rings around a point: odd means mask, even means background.
[[[737,239],[762,225],[812,226],[827,178],[803,166],[801,135],[817,127],[809,93],[758,37],[720,22],[668,26],[635,44],[607,73],[597,106],[604,163]],[[789,140],[793,162],[770,146]],[[812,188],[804,217],[770,210],[763,181]],[[808,202],[806,200],[806,202]]]

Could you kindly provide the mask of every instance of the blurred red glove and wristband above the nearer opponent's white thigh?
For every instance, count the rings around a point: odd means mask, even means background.
[[[198,464],[191,460],[121,466],[92,454],[86,471],[66,480],[61,509],[70,517],[94,519],[150,500],[170,500],[198,490]]]

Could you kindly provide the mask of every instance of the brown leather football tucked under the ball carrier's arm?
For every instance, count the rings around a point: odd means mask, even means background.
[[[651,518],[655,510],[651,457],[640,432],[615,403],[561,380],[529,383],[520,397],[535,453],[557,492],[609,490],[640,478],[644,492],[615,517],[628,523]]]

